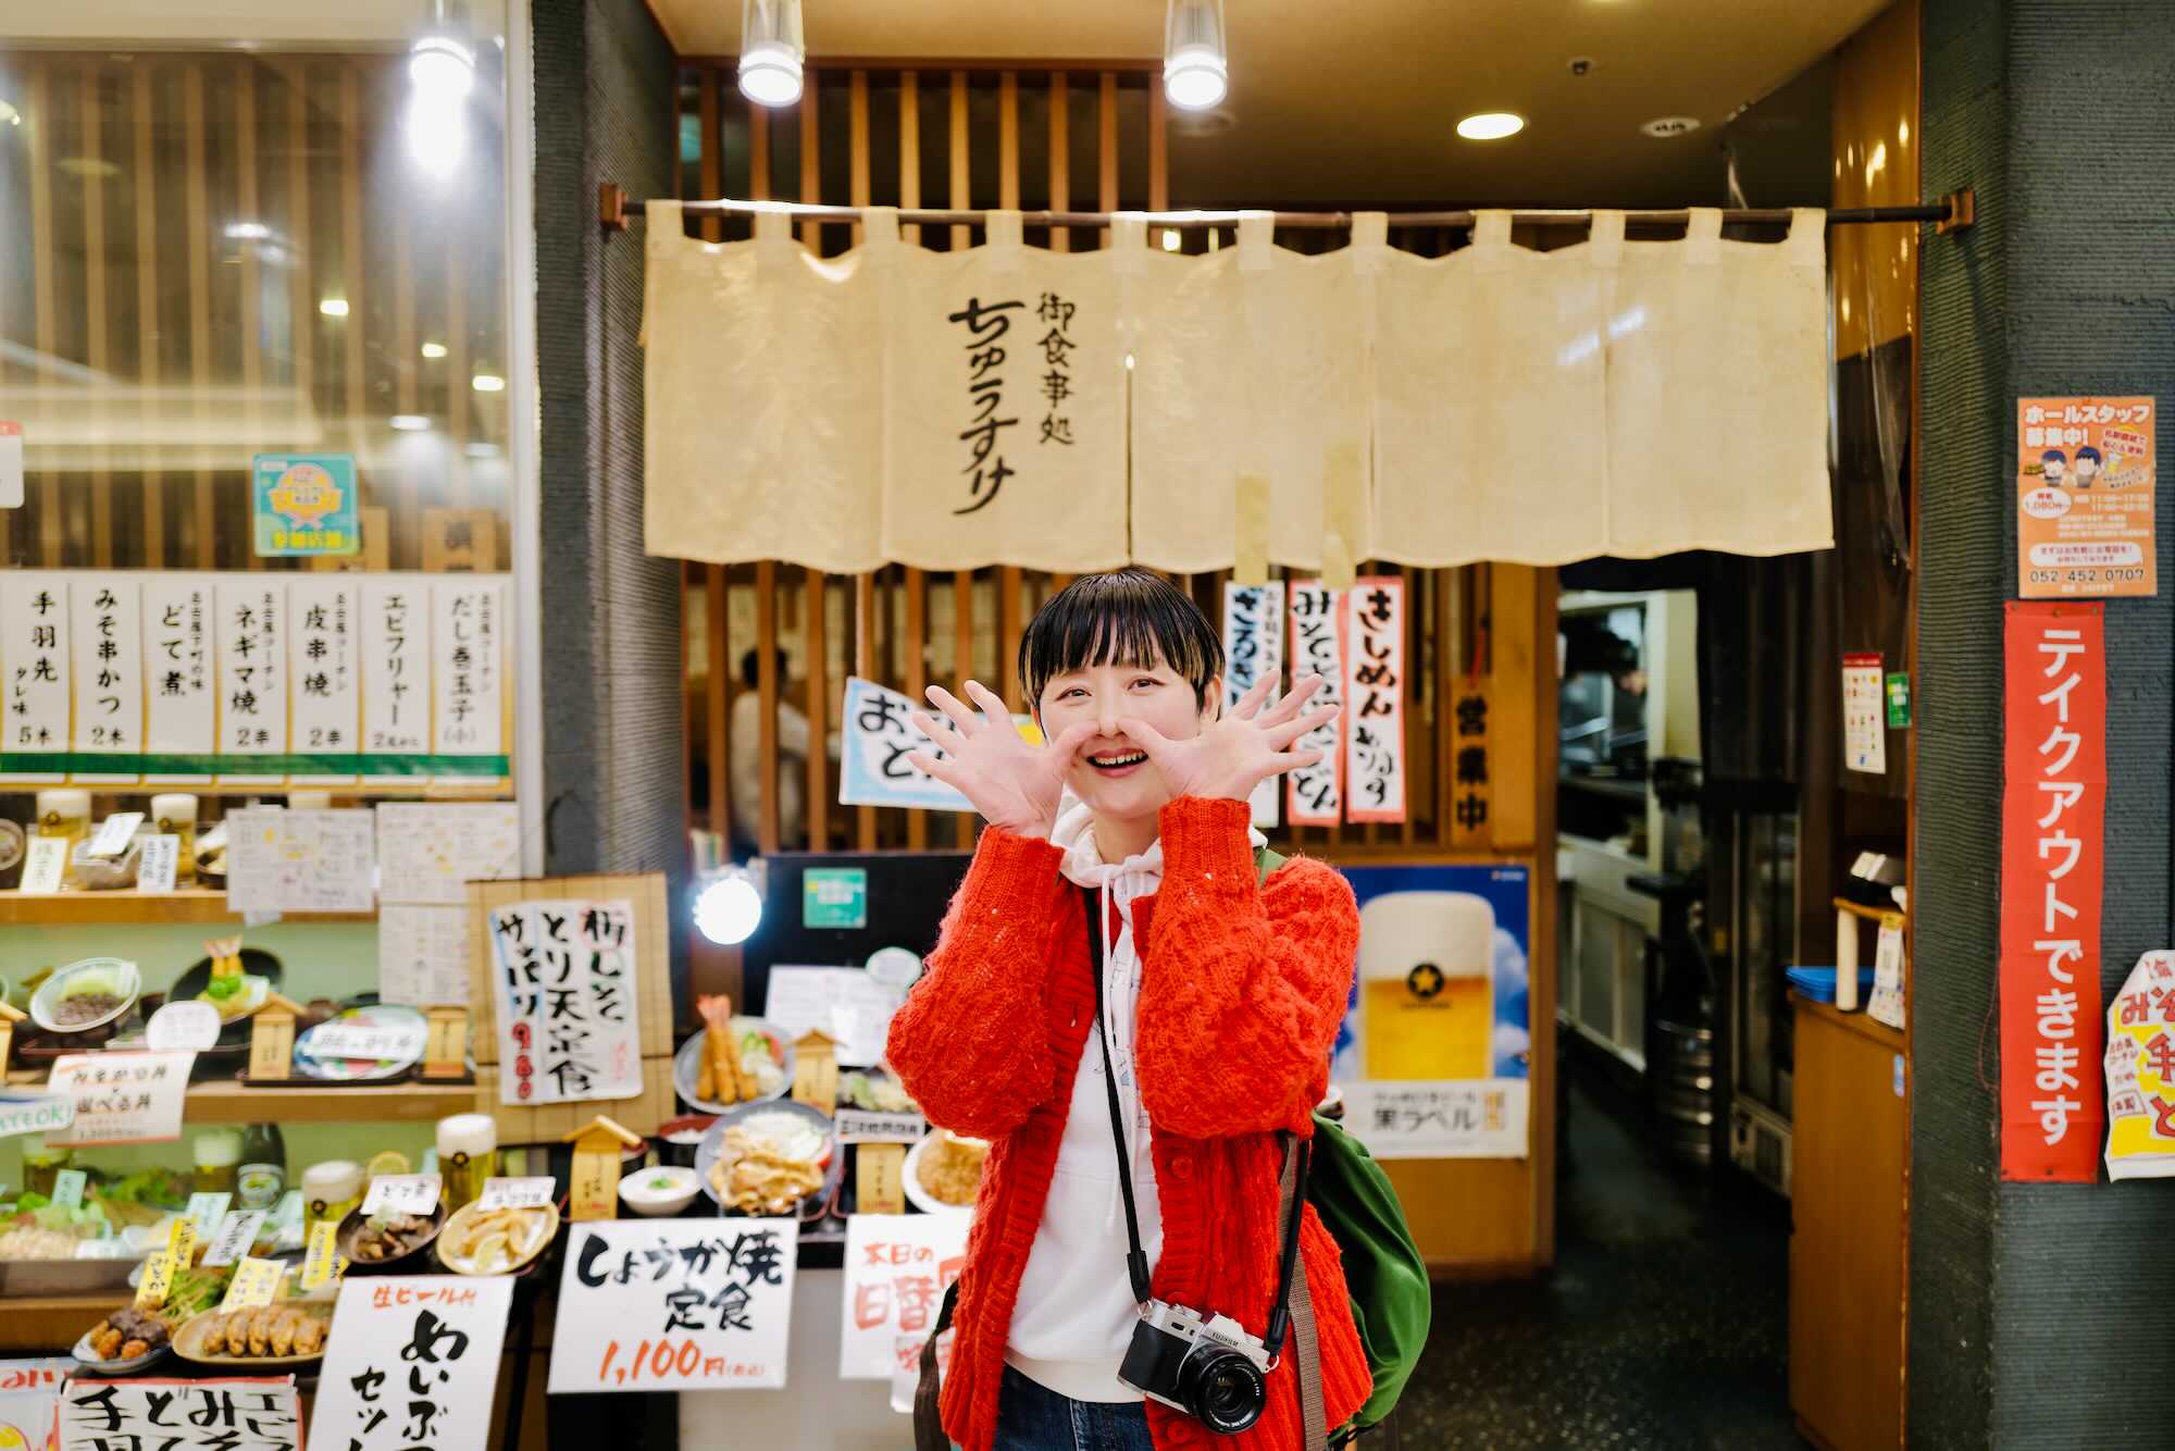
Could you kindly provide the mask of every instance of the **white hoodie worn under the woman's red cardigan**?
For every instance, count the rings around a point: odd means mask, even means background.
[[[1266,840],[1253,833],[1255,846]],[[1133,1075],[1133,1029],[1140,1014],[1133,903],[1161,888],[1164,844],[1157,840],[1148,851],[1111,866],[1096,851],[1092,814],[1070,798],[1051,831],[1051,844],[1066,853],[1066,881],[1096,888],[1103,920],[1109,922],[1116,905],[1120,927],[1116,935],[1105,933],[1103,1022],[1088,1031],[1081,1049],[1066,1131],[1057,1144],[1057,1170],[1042,1205],[1035,1244],[1027,1253],[1020,1299],[1011,1310],[1005,1364],[1072,1401],[1140,1401],[1142,1394],[1118,1379],[1140,1307],[1124,1270],[1124,1199],[1118,1192],[1109,1092],[1103,1088],[1103,1033],[1109,1033],[1109,1057],[1118,1070],[1140,1247],[1153,1275],[1164,1253],[1164,1214],[1148,1153],[1148,1112]]]

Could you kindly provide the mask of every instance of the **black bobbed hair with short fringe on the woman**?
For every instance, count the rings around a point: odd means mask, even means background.
[[[1161,661],[1194,687],[1194,705],[1209,703],[1209,683],[1222,674],[1222,640],[1192,598],[1151,570],[1081,574],[1044,600],[1020,635],[1020,687],[1029,709],[1059,674],[1090,666],[1148,666]]]

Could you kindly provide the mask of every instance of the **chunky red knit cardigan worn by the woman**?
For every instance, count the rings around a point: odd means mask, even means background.
[[[1142,953],[1135,1066],[1155,1125],[1164,1253],[1155,1297],[1268,1331],[1277,1292],[1279,1131],[1312,1133],[1359,948],[1351,885],[1292,859],[1255,881],[1244,801],[1164,807],[1161,892],[1133,903]],[[990,1140],[959,1277],[944,1429],[966,1451],[996,1438],[1011,1310],[1072,1103],[1094,977],[1081,894],[1048,842],[983,831],[929,975],[892,1020],[890,1064],[931,1123]],[[1344,1266],[1314,1207],[1301,1255],[1320,1325],[1329,1427],[1372,1390]],[[1111,1260],[1111,1275],[1124,1264]],[[1157,1451],[1301,1444],[1290,1353],[1262,1421],[1235,1438],[1148,1401]]]

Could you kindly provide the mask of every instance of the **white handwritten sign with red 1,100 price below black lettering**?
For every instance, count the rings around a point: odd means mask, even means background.
[[[550,1392],[785,1386],[800,1225],[576,1225],[559,1279]]]

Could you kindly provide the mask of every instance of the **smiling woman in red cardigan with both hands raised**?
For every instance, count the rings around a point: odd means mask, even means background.
[[[1331,868],[1294,859],[1257,883],[1246,807],[1262,781],[1320,759],[1294,744],[1335,709],[1305,709],[1309,677],[1275,705],[1264,681],[1225,711],[1220,677],[1194,603],[1118,570],[1061,590],[1020,642],[1048,744],[1027,744],[977,683],[983,714],[944,690],[929,698],[946,720],[916,714],[944,753],[918,764],[990,822],[890,1035],[931,1123],[990,1140],[942,1388],[966,1451],[1301,1444],[1290,1340],[1264,1347],[1266,1403],[1231,1436],[1120,1375],[1142,1327],[1129,1212],[1155,1301],[1268,1334],[1283,1136],[1312,1131],[1359,944]],[[1301,1262],[1335,1427],[1372,1386],[1312,1207]]]

